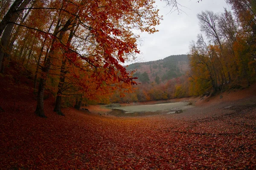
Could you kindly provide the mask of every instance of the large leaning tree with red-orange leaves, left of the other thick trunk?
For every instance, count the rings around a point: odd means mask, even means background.
[[[90,67],[94,68],[94,73],[91,74],[91,77],[95,77],[99,84],[103,82],[103,79],[101,79],[102,73],[108,73],[109,76],[107,76],[106,79],[113,79],[114,82],[135,84],[133,78],[130,77],[125,68],[119,64],[119,61],[124,62],[125,57],[127,57],[126,54],[133,52],[139,53],[136,45],[137,36],[134,35],[130,29],[137,28],[140,29],[140,31],[154,33],[157,31],[154,26],[159,24],[160,19],[160,17],[158,17],[158,11],[152,6],[154,2],[151,0],[147,0],[147,3],[138,3],[137,1],[136,3],[131,3],[130,1],[129,3],[105,1],[92,4],[76,3],[75,1],[72,3],[70,3],[70,1],[64,2],[65,4],[60,4],[60,7],[58,7],[61,9],[59,10],[61,13],[58,15],[58,22],[54,32],[51,34],[53,36],[52,43],[41,69],[42,76],[38,88],[36,113],[38,116],[42,117],[45,116],[43,95],[46,80],[50,67],[60,48],[67,48],[73,51],[73,53],[67,57],[71,62],[75,62],[76,59],[81,58],[84,62],[89,63]],[[71,7],[72,11],[67,13],[66,11],[70,10]],[[87,11],[87,13],[80,11]],[[147,15],[140,15],[143,11],[147,11]],[[64,16],[66,20],[63,22]],[[142,17],[143,20],[141,20]],[[131,20],[133,20],[133,22],[131,22]],[[89,41],[84,41],[93,44],[93,53],[89,53],[89,55],[86,53],[83,54],[84,51],[90,51],[89,48],[85,47],[83,50],[81,49],[81,51],[79,51],[80,48],[74,50],[63,41],[67,31],[78,24],[76,21],[80,24],[81,30],[90,32]],[[122,23],[122,25],[119,23]],[[84,40],[83,37],[78,38]],[[88,47],[91,48],[92,46]],[[104,68],[105,72],[98,72],[97,70],[99,68]]]

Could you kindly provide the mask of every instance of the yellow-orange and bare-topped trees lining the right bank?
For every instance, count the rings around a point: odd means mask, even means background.
[[[216,93],[253,84],[256,74],[256,4],[227,0],[233,13],[203,11],[198,14],[202,34],[190,45],[191,95]]]

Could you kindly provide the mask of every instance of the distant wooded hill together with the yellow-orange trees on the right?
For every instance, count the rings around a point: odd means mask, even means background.
[[[216,94],[256,82],[256,3],[227,0],[233,11],[202,11],[201,33],[186,55],[130,65],[137,69],[135,94],[112,101],[162,100]],[[190,68],[188,70],[188,68]],[[185,72],[187,73],[185,74]]]

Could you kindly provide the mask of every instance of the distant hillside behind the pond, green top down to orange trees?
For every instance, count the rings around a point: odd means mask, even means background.
[[[142,102],[148,100],[166,100],[189,96],[188,56],[172,55],[164,59],[128,65],[128,71],[135,71],[134,77],[139,84],[133,86],[133,93],[116,93],[111,102]]]

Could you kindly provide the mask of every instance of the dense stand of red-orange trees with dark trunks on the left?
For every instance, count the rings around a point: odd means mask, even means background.
[[[120,63],[140,51],[131,29],[154,33],[161,16],[153,0],[4,0],[0,11],[0,69],[9,64],[32,74],[35,113],[45,117],[44,91],[61,102],[104,102],[115,90],[136,84]],[[119,5],[123,4],[123,5]],[[42,17],[43,16],[43,17]],[[102,101],[103,100],[103,101]]]

